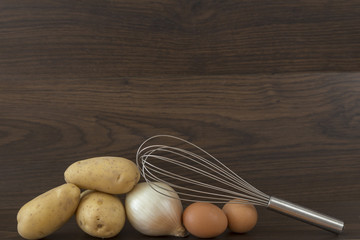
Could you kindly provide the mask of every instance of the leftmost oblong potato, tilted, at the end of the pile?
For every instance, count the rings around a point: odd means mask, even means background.
[[[17,230],[26,239],[39,239],[59,229],[70,217],[80,201],[80,189],[63,184],[32,199],[17,214]]]

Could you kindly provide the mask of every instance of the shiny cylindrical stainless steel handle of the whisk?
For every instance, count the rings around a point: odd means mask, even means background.
[[[341,220],[276,197],[270,197],[267,208],[336,234],[344,229],[344,222]]]

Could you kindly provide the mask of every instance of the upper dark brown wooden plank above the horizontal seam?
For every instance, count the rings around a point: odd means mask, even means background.
[[[10,79],[360,69],[357,1],[4,0],[0,7],[0,72]]]

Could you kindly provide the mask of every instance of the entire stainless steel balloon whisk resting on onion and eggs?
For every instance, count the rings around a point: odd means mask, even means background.
[[[151,145],[155,140],[173,142],[173,146]],[[186,147],[192,151],[185,150]],[[344,228],[341,220],[261,192],[214,156],[179,137],[156,135],[148,138],[137,151],[136,164],[154,190],[162,188],[156,182],[166,183],[182,201],[226,203],[236,199],[237,203],[263,206],[336,234]],[[165,191],[156,191],[171,197],[166,194],[168,189],[162,189]]]

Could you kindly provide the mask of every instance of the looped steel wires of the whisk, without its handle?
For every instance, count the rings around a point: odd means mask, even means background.
[[[179,140],[182,143],[186,143],[197,150],[199,150],[202,154],[204,154],[206,157],[203,157],[199,154],[196,154],[194,152],[181,149],[178,147],[172,147],[172,146],[166,146],[166,145],[150,145],[150,146],[144,146],[145,143],[148,141],[158,138],[158,137],[169,137],[175,140]],[[158,154],[160,153],[160,155]],[[162,156],[161,154],[170,154],[173,158],[181,159],[176,160],[170,157]],[[196,181],[194,179],[184,177],[182,175],[164,170],[149,161],[152,160],[160,160],[162,162],[170,163],[173,165],[180,166],[186,170],[189,170],[190,172],[195,172],[197,175],[202,175],[207,177],[207,179],[214,180],[217,183],[220,183],[223,185],[223,187],[214,186],[208,183]],[[190,161],[192,164],[186,163],[186,161]],[[139,148],[136,156],[136,164],[140,169],[142,169],[142,175],[144,176],[145,180],[147,182],[150,182],[150,180],[155,181],[161,181],[164,183],[167,183],[168,185],[176,188],[176,189],[182,189],[186,190],[186,192],[177,192],[179,195],[181,195],[182,200],[187,201],[194,201],[195,199],[202,199],[202,200],[208,200],[210,202],[214,202],[214,200],[221,201],[221,202],[227,202],[230,199],[234,198],[240,198],[239,201],[242,202],[248,202],[256,205],[263,205],[265,206],[269,201],[269,196],[262,193],[249,183],[247,183],[243,178],[241,178],[239,175],[234,173],[231,169],[229,169],[225,164],[220,162],[218,159],[216,159],[214,156],[203,150],[202,148],[196,146],[193,143],[190,143],[186,140],[169,136],[169,135],[157,135],[152,138],[149,138],[146,140]],[[194,166],[198,165],[199,167]],[[203,169],[202,169],[203,168]],[[206,170],[208,171],[206,171]],[[174,184],[168,181],[165,181],[164,179],[156,176],[155,174],[160,174],[162,177],[168,177],[171,179],[176,179],[178,181],[182,181],[185,183],[192,184],[192,186],[197,186],[205,189],[211,189],[215,190],[217,192],[225,193],[225,194],[219,194],[214,192],[208,192],[203,191],[199,189],[194,188],[187,188],[180,186],[178,184]],[[224,187],[226,186],[226,187]],[[228,188],[233,188],[234,190],[229,190]],[[191,192],[191,193],[189,193]],[[195,194],[196,193],[196,194]],[[229,195],[230,194],[230,195]],[[192,197],[192,199],[184,198],[183,196]],[[217,197],[217,198],[216,198]],[[221,199],[220,199],[220,198]]]

